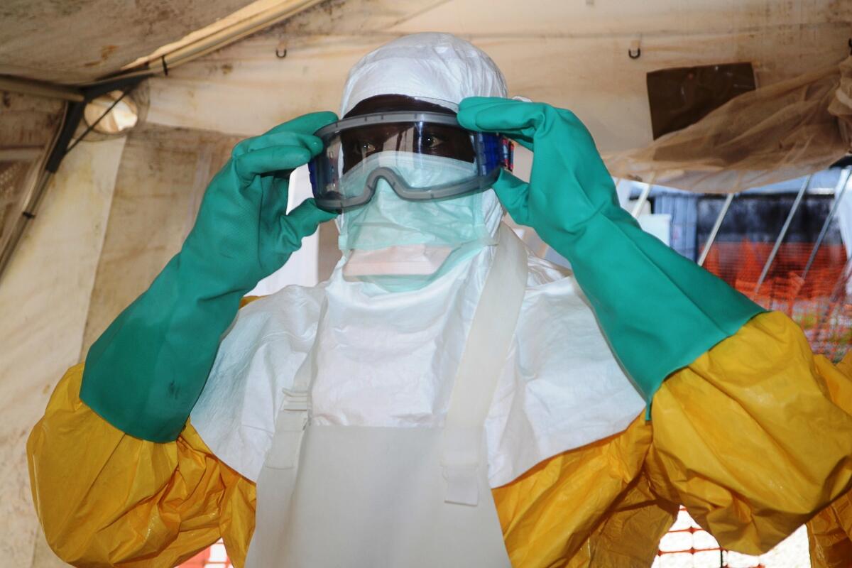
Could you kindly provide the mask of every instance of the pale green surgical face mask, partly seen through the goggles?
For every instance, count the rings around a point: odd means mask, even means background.
[[[420,185],[460,179],[473,168],[463,160],[409,152],[379,152],[359,166],[341,178],[343,191],[362,187],[364,177],[377,167],[394,169]],[[494,244],[502,213],[491,191],[412,202],[380,180],[370,202],[338,217],[338,244],[347,256],[343,274],[377,277],[379,284],[393,290],[422,287],[483,246]]]

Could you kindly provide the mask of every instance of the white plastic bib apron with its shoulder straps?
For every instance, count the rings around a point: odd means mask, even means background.
[[[248,568],[510,566],[484,422],[526,283],[527,253],[501,226],[444,427],[310,424],[308,356],[257,480]]]

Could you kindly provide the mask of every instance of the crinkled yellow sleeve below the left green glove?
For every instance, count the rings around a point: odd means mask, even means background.
[[[169,444],[125,434],[80,401],[67,371],[27,440],[32,500],[50,548],[76,566],[170,567],[222,536],[242,565],[255,485],[191,425]]]

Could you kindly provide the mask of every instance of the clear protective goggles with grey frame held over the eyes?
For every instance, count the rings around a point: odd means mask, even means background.
[[[366,204],[382,180],[410,201],[482,191],[501,168],[510,171],[514,159],[509,139],[463,129],[454,114],[443,112],[364,114],[314,135],[325,147],[308,163],[314,200],[334,212]],[[428,175],[436,170],[440,175]]]

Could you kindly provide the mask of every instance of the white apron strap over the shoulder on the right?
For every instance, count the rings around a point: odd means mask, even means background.
[[[476,506],[478,471],[487,467],[485,421],[515,336],[527,288],[527,250],[504,224],[488,270],[468,341],[458,364],[456,384],[441,439],[440,464],[446,479],[445,502]]]

